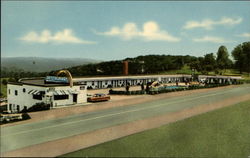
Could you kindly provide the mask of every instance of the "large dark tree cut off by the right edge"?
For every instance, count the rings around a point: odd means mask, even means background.
[[[250,42],[239,44],[232,51],[235,60],[235,68],[242,72],[248,72],[250,75]]]

